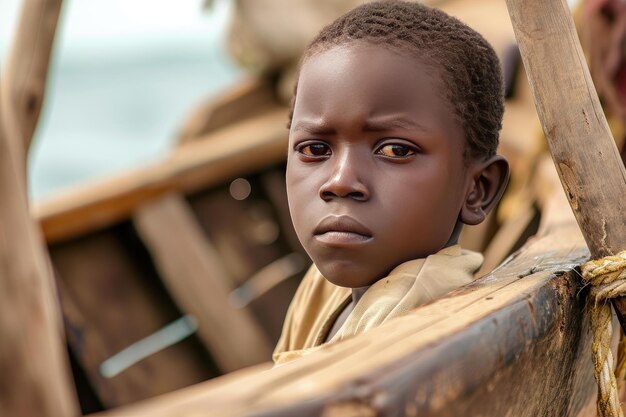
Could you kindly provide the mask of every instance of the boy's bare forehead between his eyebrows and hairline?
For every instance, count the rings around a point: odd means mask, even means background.
[[[307,57],[300,70],[294,117],[301,111],[417,112],[441,110],[456,120],[436,67],[383,45],[351,43]]]

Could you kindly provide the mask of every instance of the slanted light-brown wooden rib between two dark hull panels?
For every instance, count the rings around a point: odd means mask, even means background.
[[[171,294],[199,321],[200,338],[220,368],[230,372],[271,359],[248,310],[229,304],[233,281],[184,199],[170,194],[144,204],[134,222]]]

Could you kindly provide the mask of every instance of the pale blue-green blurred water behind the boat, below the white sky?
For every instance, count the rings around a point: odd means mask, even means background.
[[[239,73],[217,47],[141,52],[53,70],[30,154],[32,198],[163,157],[189,109]]]

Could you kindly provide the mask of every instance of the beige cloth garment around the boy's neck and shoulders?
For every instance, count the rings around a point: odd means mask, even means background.
[[[454,245],[424,259],[398,265],[368,288],[329,342],[380,326],[469,284],[482,262],[481,254]],[[312,265],[287,311],[274,362],[286,363],[316,350],[350,301],[350,288],[330,283]]]

